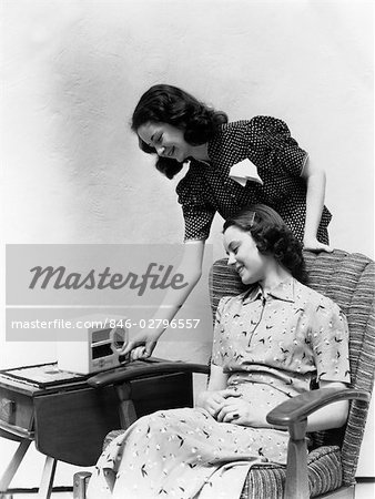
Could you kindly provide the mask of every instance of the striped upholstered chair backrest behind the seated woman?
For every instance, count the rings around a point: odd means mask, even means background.
[[[372,393],[375,364],[374,262],[358,253],[349,254],[341,249],[317,254],[304,252],[304,256],[307,285],[336,302],[347,317],[352,387]],[[223,296],[237,295],[245,289],[226,262],[226,258],[219,259],[211,271],[213,315]],[[343,480],[347,485],[355,477],[367,411],[367,403],[353,401],[345,431],[335,431],[341,439]],[[333,431],[322,431],[315,435],[315,441],[331,445],[332,437]]]

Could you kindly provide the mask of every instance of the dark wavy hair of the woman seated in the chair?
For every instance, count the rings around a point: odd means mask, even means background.
[[[223,232],[233,225],[251,233],[260,253],[273,255],[293,277],[307,282],[302,244],[272,207],[264,204],[246,206],[225,221]]]

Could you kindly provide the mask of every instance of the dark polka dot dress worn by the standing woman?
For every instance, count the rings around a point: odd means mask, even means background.
[[[176,186],[185,221],[185,240],[206,240],[216,212],[223,218],[244,206],[263,203],[273,207],[302,241],[306,216],[306,184],[301,177],[307,153],[291,136],[286,124],[271,116],[256,116],[222,126],[209,143],[210,163],[192,160]],[[263,185],[232,180],[231,167],[249,159]],[[317,231],[328,243],[331,213],[324,206]]]

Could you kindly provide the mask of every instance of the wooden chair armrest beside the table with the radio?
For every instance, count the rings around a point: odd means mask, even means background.
[[[155,361],[152,357],[148,360],[134,360],[114,370],[99,373],[88,379],[88,385],[101,388],[107,385],[118,385],[131,379],[159,376],[166,373],[203,373],[209,374],[210,368],[204,364],[184,361]]]

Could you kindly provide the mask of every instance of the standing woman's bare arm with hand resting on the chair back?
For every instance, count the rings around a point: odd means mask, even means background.
[[[305,180],[307,186],[304,247],[311,251],[332,252],[330,246],[320,243],[316,238],[324,206],[325,172],[307,159],[301,176]]]

